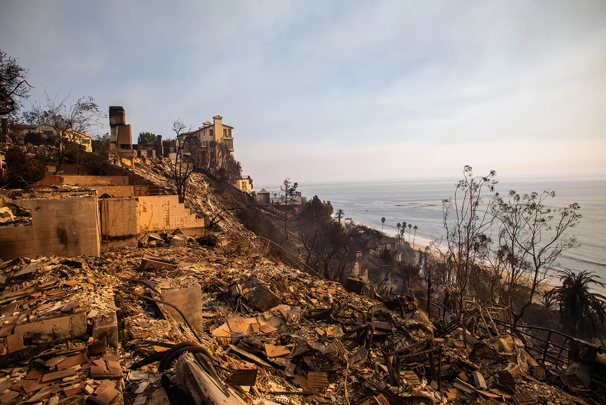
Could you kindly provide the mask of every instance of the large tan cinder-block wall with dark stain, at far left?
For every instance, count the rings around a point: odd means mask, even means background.
[[[99,209],[95,196],[21,199],[32,226],[0,227],[0,258],[99,256]]]

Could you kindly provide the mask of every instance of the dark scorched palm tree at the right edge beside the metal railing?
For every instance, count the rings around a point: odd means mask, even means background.
[[[594,337],[599,325],[606,325],[606,296],[590,291],[590,284],[604,287],[594,272],[560,270],[561,286],[547,293],[559,307],[560,317],[575,337]]]

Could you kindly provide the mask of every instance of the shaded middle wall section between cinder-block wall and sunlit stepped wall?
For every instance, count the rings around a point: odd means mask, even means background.
[[[137,200],[102,198],[99,201],[102,245],[137,246]]]

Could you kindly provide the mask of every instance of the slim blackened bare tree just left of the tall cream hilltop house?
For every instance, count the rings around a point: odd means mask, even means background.
[[[185,131],[184,122],[181,119],[173,122],[173,131],[176,134],[176,157],[173,164],[173,178],[177,186],[177,195],[179,202],[185,202],[185,193],[187,192],[187,182],[191,173],[199,166],[199,139],[196,136],[189,135]]]

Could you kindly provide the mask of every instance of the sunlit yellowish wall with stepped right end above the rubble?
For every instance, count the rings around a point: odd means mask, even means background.
[[[179,204],[176,195],[141,196],[137,204],[137,232],[181,228],[204,229],[204,219],[196,219],[189,209]]]

